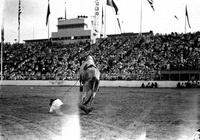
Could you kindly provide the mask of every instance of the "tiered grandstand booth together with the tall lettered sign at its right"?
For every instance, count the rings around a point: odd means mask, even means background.
[[[95,0],[94,17],[78,16],[73,19],[58,18],[57,32],[53,32],[52,41],[62,41],[63,43],[73,43],[77,41],[100,38],[100,21],[102,17],[100,0]]]

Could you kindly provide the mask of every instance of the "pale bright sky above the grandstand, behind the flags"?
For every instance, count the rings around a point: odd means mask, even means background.
[[[1,0],[2,1],[2,0]],[[140,31],[142,2],[142,32],[185,32],[185,5],[187,4],[191,28],[187,32],[200,30],[200,0],[154,0],[152,10],[147,0],[114,0],[119,11],[122,32]],[[93,16],[94,0],[50,0],[50,32],[57,31],[57,18],[64,17],[65,2],[67,18],[78,15]],[[21,41],[48,37],[46,26],[48,0],[21,0]],[[178,17],[178,20],[174,18]],[[0,21],[4,23],[5,42],[18,38],[18,0],[3,0],[0,5]],[[106,33],[120,33],[114,9],[106,6]]]

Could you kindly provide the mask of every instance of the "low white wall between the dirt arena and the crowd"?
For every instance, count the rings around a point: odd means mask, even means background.
[[[174,88],[177,86],[177,83],[180,81],[105,81],[100,82],[101,87],[141,87],[144,83],[157,83],[158,88]],[[183,81],[184,82],[184,81]],[[63,80],[4,80],[1,81],[1,85],[31,85],[31,86],[79,86],[79,82],[72,81],[63,81]]]

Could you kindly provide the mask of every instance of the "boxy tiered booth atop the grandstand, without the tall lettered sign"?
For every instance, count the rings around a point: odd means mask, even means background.
[[[65,19],[58,18],[57,32],[52,32],[51,40],[73,43],[91,39],[91,19],[87,16]]]

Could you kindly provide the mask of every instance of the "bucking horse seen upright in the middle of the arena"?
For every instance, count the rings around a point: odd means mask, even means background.
[[[99,90],[100,71],[96,67],[93,58],[89,55],[80,67],[79,83],[81,99],[79,107],[86,114],[93,110],[96,93]]]

